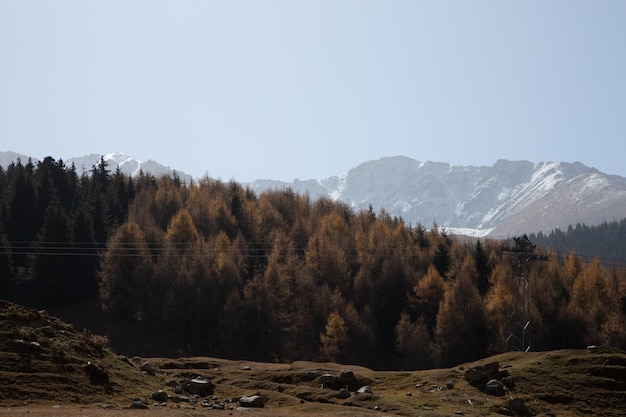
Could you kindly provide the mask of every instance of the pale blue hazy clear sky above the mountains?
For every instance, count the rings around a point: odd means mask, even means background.
[[[0,150],[223,180],[372,159],[626,176],[626,1],[0,0]]]

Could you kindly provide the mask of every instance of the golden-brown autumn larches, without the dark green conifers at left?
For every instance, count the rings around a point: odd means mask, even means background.
[[[189,353],[426,368],[506,349],[518,272],[502,242],[209,179],[161,179],[129,213],[101,258],[104,306],[164,320]],[[120,240],[139,245],[141,285]],[[623,271],[572,253],[530,273],[533,349],[625,346]]]

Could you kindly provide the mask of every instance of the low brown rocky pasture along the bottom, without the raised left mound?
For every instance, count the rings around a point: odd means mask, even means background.
[[[158,369],[156,375],[140,374],[142,384],[113,394],[64,401],[72,389],[56,386],[54,394],[41,393],[56,399],[11,399],[5,391],[0,416],[497,416],[507,415],[511,398],[523,399],[538,416],[622,416],[626,409],[626,355],[608,348],[506,353],[449,369],[407,372],[312,362],[265,364],[214,358],[149,361]],[[490,361],[498,361],[515,378],[515,389],[504,396],[487,395],[464,379],[464,370]],[[350,369],[358,379],[368,382],[373,394],[352,393],[348,399],[339,399],[336,391],[301,378],[307,370],[336,374],[341,369]],[[149,399],[156,389],[170,389],[166,381],[190,375],[215,383],[213,399],[260,393],[268,398],[266,407],[242,411],[230,403],[226,410],[211,410],[171,401],[157,405]],[[22,387],[20,396],[26,390]],[[127,409],[133,397],[143,399],[150,409]]]

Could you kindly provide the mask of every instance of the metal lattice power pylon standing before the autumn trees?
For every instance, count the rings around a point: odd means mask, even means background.
[[[509,350],[528,352],[531,347],[530,323],[530,264],[536,258],[535,248],[527,235],[514,237],[515,247],[503,247],[505,254],[517,255],[517,282],[513,289],[511,311],[507,319],[505,347]]]

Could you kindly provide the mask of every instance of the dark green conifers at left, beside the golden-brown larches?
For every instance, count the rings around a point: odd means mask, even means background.
[[[147,179],[103,159],[80,174],[51,157],[0,168],[0,297],[42,307],[97,297],[98,250]]]

